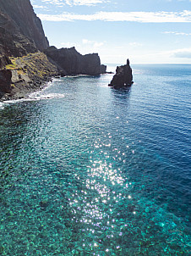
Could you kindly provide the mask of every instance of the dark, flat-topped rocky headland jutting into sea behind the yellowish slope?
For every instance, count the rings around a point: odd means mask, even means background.
[[[82,55],[75,47],[61,48],[48,47],[46,53],[49,60],[57,64],[58,70],[65,75],[100,75],[106,73],[106,66],[101,65],[97,53]]]

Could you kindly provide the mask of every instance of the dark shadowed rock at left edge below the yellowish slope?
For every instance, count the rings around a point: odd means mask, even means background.
[[[0,70],[0,92],[11,92],[11,77],[10,70]]]

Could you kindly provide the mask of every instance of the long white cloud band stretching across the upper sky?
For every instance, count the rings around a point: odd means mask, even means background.
[[[47,1],[47,0],[44,0]],[[56,0],[54,0],[56,1]],[[99,12],[95,14],[38,14],[42,20],[73,21],[73,20],[103,20],[103,21],[134,21],[141,23],[191,22],[191,11],[183,12]]]

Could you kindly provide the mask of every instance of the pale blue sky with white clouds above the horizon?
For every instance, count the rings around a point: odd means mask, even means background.
[[[50,45],[102,64],[191,64],[191,0],[31,0]]]

